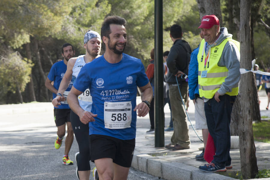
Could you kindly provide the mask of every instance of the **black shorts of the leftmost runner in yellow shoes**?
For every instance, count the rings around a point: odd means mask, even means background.
[[[70,122],[70,109],[57,109],[54,108],[54,121],[56,126],[64,125]]]

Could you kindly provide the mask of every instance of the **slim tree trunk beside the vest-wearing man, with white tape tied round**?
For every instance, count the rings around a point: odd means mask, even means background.
[[[240,1],[240,55],[241,68],[251,69],[250,57],[250,0]],[[255,178],[258,173],[256,148],[252,132],[253,107],[253,74],[245,73],[241,76],[240,91],[240,119],[239,119],[239,147],[241,172],[243,179]]]

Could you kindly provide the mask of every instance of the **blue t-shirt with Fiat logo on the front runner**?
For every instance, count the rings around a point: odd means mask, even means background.
[[[122,60],[118,63],[111,64],[102,55],[85,64],[76,78],[74,87],[82,92],[86,88],[90,89],[93,100],[91,112],[98,116],[95,117],[95,122],[89,122],[89,135],[106,135],[122,140],[134,139],[137,113],[133,109],[136,106],[137,86],[145,86],[148,82],[149,79],[141,60],[124,53]],[[118,112],[114,114],[113,111],[117,108],[109,109],[113,103],[125,104],[126,108],[122,110],[128,110],[131,117],[127,115],[128,113],[126,115]],[[106,122],[114,124],[131,120],[130,127],[117,129],[112,125],[113,128],[105,128],[104,112],[110,115],[107,116]]]

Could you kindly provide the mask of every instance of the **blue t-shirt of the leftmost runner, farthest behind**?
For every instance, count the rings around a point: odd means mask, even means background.
[[[53,87],[58,90],[59,85],[61,83],[61,80],[64,77],[65,72],[67,71],[67,65],[64,63],[64,60],[58,61],[52,65],[52,68],[48,74],[48,79],[50,81],[53,81]],[[67,87],[67,90],[65,91],[65,94],[70,91],[73,83],[70,82],[69,86]],[[66,95],[65,95],[66,96]],[[52,98],[54,99],[56,97],[56,94],[52,93]],[[54,107],[57,109],[70,109],[69,105],[66,102],[61,102],[61,105],[58,107]]]

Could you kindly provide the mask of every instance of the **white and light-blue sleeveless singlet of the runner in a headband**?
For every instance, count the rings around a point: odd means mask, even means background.
[[[81,68],[86,64],[84,61],[85,55],[79,55],[76,59],[76,62],[72,68],[72,82],[73,84],[76,81],[76,78],[81,70]],[[90,91],[87,88],[81,95],[78,97],[79,105],[83,110],[91,112],[92,107],[92,97],[90,95]]]

